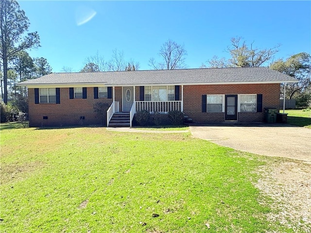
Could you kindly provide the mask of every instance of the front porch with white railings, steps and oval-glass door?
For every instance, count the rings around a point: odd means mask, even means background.
[[[107,111],[107,127],[124,127],[125,124],[126,127],[131,127],[135,113],[142,110],[151,114],[183,112],[183,85],[113,86],[112,97],[113,102]],[[127,114],[119,117],[117,113]],[[122,118],[123,121],[118,123],[118,118]]]

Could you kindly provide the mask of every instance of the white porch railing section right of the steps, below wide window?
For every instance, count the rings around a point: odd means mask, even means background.
[[[148,110],[150,113],[183,111],[182,100],[177,101],[135,101],[136,111]]]

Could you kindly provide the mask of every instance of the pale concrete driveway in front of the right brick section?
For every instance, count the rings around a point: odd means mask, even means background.
[[[267,156],[279,156],[311,163],[311,129],[288,124],[210,123],[191,124],[194,137]]]

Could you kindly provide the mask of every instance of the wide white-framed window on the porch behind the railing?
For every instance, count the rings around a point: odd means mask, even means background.
[[[145,86],[145,101],[173,101],[175,86]]]

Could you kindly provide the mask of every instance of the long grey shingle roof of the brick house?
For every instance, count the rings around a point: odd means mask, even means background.
[[[297,80],[267,67],[138,70],[89,73],[52,73],[19,85],[148,85],[148,84],[226,84],[296,83]]]

